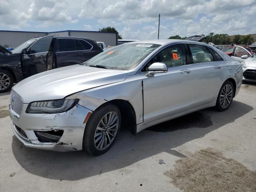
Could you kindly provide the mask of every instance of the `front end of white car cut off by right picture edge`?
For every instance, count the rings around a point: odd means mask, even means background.
[[[256,54],[242,61],[243,80],[256,82]]]

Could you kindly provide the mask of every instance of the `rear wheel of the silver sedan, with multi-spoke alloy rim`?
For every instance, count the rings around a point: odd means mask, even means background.
[[[229,108],[234,98],[234,85],[231,81],[227,80],[220,88],[218,94],[216,108],[219,111],[225,111]]]

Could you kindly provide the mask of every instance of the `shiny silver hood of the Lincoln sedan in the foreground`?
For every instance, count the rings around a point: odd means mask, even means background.
[[[82,65],[62,67],[28,77],[12,89],[28,104],[62,99],[68,95],[126,79],[128,71]]]

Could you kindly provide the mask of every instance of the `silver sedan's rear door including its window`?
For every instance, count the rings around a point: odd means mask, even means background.
[[[190,86],[192,107],[210,102],[220,89],[227,63],[208,46],[187,43],[192,60],[187,65],[190,73],[186,75],[187,86]]]

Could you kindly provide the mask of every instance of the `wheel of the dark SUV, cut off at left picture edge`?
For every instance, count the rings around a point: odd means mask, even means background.
[[[10,72],[0,69],[0,93],[7,92],[13,86],[14,80]]]

